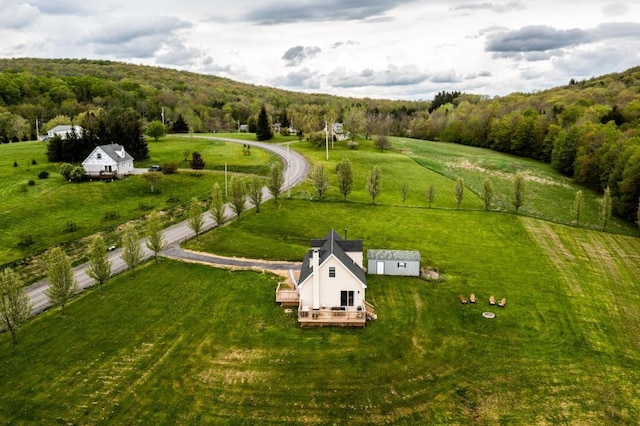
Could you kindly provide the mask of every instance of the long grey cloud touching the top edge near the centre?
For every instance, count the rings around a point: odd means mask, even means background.
[[[273,3],[258,7],[244,19],[259,25],[294,22],[365,20],[415,0],[326,0]]]

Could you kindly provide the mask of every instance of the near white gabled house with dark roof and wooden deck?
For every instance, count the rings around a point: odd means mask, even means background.
[[[297,284],[301,326],[364,327],[367,318],[375,318],[365,298],[362,262],[362,240],[344,240],[331,230],[325,238],[311,241]]]

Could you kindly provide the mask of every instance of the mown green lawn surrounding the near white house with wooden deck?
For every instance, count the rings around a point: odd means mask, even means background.
[[[221,231],[237,242],[251,223],[280,223],[255,244],[293,253],[305,244],[289,220],[309,223],[312,235],[326,231],[301,219],[304,203],[287,201]],[[77,299],[65,318],[54,311],[30,322],[17,346],[0,336],[0,419],[640,421],[640,240],[483,211],[361,205],[350,215],[355,206],[332,207],[352,218],[349,234],[365,238],[365,249],[419,249],[423,265],[441,268],[445,281],[370,276],[377,321],[303,330],[295,312],[275,304],[273,276],[148,263]],[[401,218],[411,227],[393,226]],[[459,295],[471,292],[479,303],[461,305]],[[507,306],[487,320],[481,313],[491,294]]]

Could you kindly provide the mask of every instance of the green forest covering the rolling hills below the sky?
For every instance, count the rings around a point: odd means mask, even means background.
[[[637,221],[640,67],[502,97],[439,92],[433,100],[290,92],[158,67],[88,59],[1,59],[0,141],[32,140],[58,124],[126,111],[142,126],[184,118],[189,132],[271,122],[304,135],[342,122],[353,138],[407,136],[490,148],[551,165],[586,187],[610,188],[614,213]],[[117,141],[115,141],[117,142]]]

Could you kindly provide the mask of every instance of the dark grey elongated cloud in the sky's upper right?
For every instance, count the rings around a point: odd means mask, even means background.
[[[584,30],[558,30],[533,25],[515,31],[505,31],[489,36],[488,52],[536,52],[570,47],[590,42],[593,37]]]

